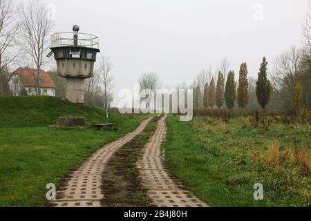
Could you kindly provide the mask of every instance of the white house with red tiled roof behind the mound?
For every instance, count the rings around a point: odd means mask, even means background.
[[[37,81],[37,69],[18,68],[13,73],[10,87],[14,95],[20,95],[21,90],[27,95],[37,95]],[[39,82],[41,95],[55,97],[54,81],[44,70],[39,70]]]

